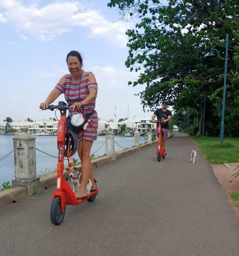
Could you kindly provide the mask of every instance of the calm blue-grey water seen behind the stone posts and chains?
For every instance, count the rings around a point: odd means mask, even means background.
[[[13,137],[14,135],[0,135],[0,158],[8,154],[13,150]],[[146,137],[140,136],[140,143],[144,143]],[[51,154],[53,156],[58,155],[57,151],[57,136],[36,136],[36,148]],[[94,141],[91,154],[95,151],[95,157],[102,156],[105,154],[105,145],[102,144],[105,142],[105,136],[98,136],[97,140]],[[124,136],[115,136],[115,142],[119,144],[115,144],[115,151],[121,151],[124,148],[130,148],[134,145],[134,137],[124,137]],[[132,144],[131,144],[132,143]],[[102,146],[102,147],[101,147]],[[124,148],[121,148],[121,147]],[[101,148],[100,148],[101,147]],[[100,148],[100,149],[99,149]],[[79,159],[77,153],[74,154],[75,159]],[[65,165],[67,161],[64,161]],[[39,175],[42,171],[56,169],[57,159],[50,157],[42,152],[36,150],[36,174]],[[14,159],[13,153],[9,156],[5,157],[0,161],[0,184],[15,179],[14,173]]]

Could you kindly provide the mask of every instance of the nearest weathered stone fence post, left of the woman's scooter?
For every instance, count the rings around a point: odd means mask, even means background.
[[[39,191],[40,179],[36,177],[36,137],[27,133],[28,127],[20,127],[22,131],[13,137],[15,180],[13,187],[27,187],[27,194],[32,195],[34,190]]]

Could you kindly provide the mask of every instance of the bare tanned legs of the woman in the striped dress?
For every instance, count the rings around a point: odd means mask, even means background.
[[[83,152],[82,152],[82,143],[83,143]],[[86,194],[86,185],[88,183],[88,179],[91,180],[92,186],[91,189],[96,188],[96,184],[94,182],[93,177],[93,167],[90,160],[90,151],[93,141],[91,140],[81,140],[78,142],[78,155],[81,160],[81,186],[79,190],[75,193],[77,197],[85,197]]]

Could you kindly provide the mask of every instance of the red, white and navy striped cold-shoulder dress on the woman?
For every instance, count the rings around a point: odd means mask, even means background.
[[[98,85],[89,80],[89,74],[91,72],[87,72],[84,76],[82,76],[81,83],[74,83],[71,80],[71,74],[65,75],[65,83],[64,85],[57,83],[55,89],[59,90],[61,93],[65,94],[65,100],[68,104],[73,104],[75,102],[83,101],[89,95],[89,89],[95,88],[98,90]],[[96,140],[97,139],[97,131],[98,131],[98,115],[95,111],[95,100],[92,100],[90,103],[84,105],[84,114],[89,114],[92,111],[93,114],[90,116],[88,122],[90,124],[87,125],[87,128],[80,133],[75,133],[77,139],[80,141],[82,139],[85,140]],[[78,114],[78,110],[71,110],[69,112],[69,116]]]

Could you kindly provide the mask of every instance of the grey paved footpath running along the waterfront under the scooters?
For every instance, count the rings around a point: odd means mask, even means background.
[[[59,226],[55,186],[0,208],[0,255],[239,255],[239,220],[198,149],[190,162],[194,146],[175,133],[161,162],[153,145],[95,169],[96,200],[67,206]]]

